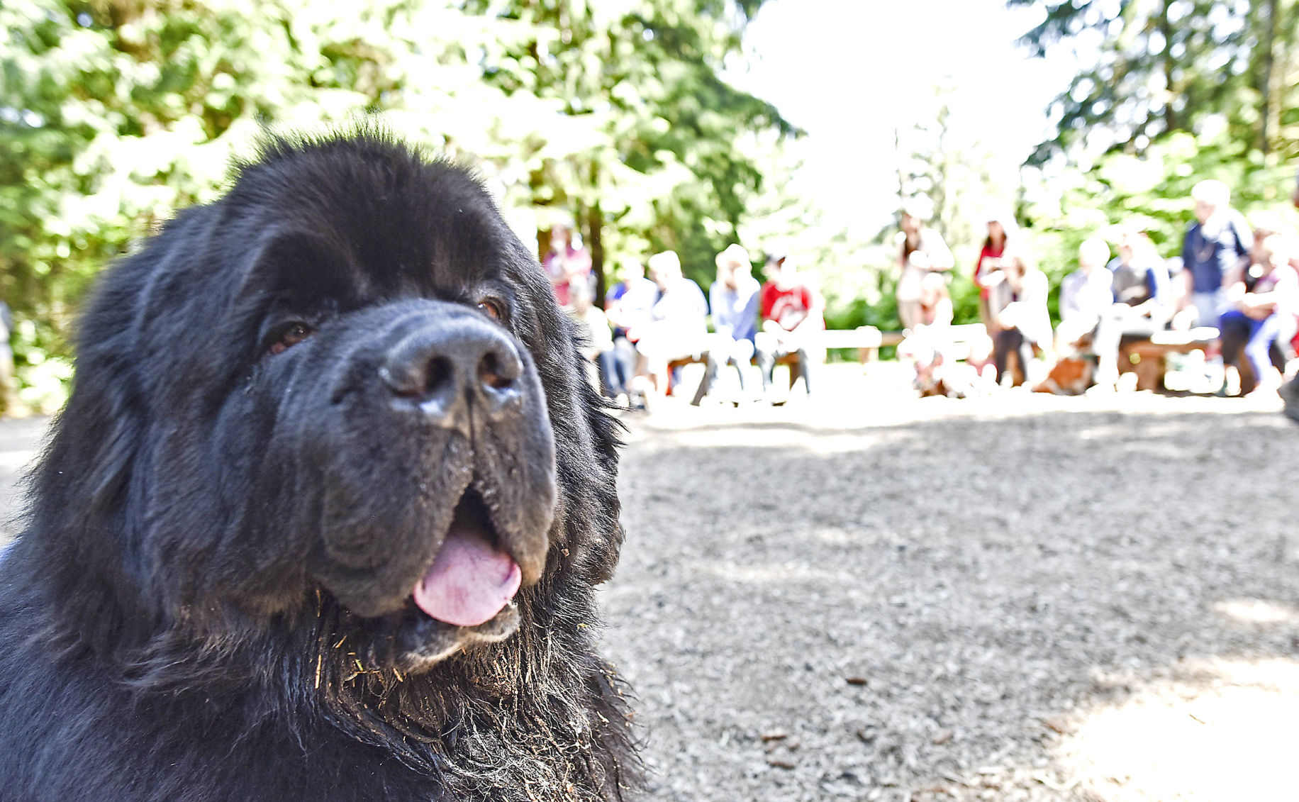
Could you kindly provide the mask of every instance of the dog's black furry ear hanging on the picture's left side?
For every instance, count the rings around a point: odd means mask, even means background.
[[[170,226],[179,230],[184,218]],[[77,372],[40,464],[19,554],[61,599],[56,640],[96,650],[132,637],[156,608],[145,602],[139,549],[143,523],[129,502],[148,471],[145,380],[138,359],[144,292],[173,257],[151,242],[105,270],[77,329]]]

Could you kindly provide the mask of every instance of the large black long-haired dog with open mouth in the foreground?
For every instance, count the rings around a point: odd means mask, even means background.
[[[0,567],[0,799],[618,799],[616,426],[462,170],[274,140],[101,279]]]

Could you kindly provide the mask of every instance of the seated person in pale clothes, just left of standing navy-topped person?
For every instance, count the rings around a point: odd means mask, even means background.
[[[1151,337],[1163,331],[1173,316],[1168,270],[1144,231],[1122,231],[1118,255],[1107,266],[1113,282],[1113,303],[1100,313],[1091,341],[1096,354],[1096,385],[1103,390],[1118,383],[1122,338]]]

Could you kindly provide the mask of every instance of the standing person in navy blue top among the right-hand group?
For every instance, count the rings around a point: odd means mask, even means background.
[[[1195,222],[1182,238],[1182,282],[1189,305],[1178,326],[1217,326],[1226,309],[1225,281],[1248,264],[1254,238],[1244,218],[1229,205],[1231,191],[1221,181],[1202,181],[1191,188]]]

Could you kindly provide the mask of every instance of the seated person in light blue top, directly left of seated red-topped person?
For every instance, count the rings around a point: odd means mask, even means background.
[[[744,372],[753,359],[753,338],[757,334],[757,302],[761,286],[753,278],[753,263],[748,251],[738,244],[726,246],[717,255],[717,281],[708,289],[708,308],[713,318],[713,334],[708,337],[708,369],[699,382],[695,398],[698,406],[717,381],[722,365],[735,365],[739,390],[744,393]]]

